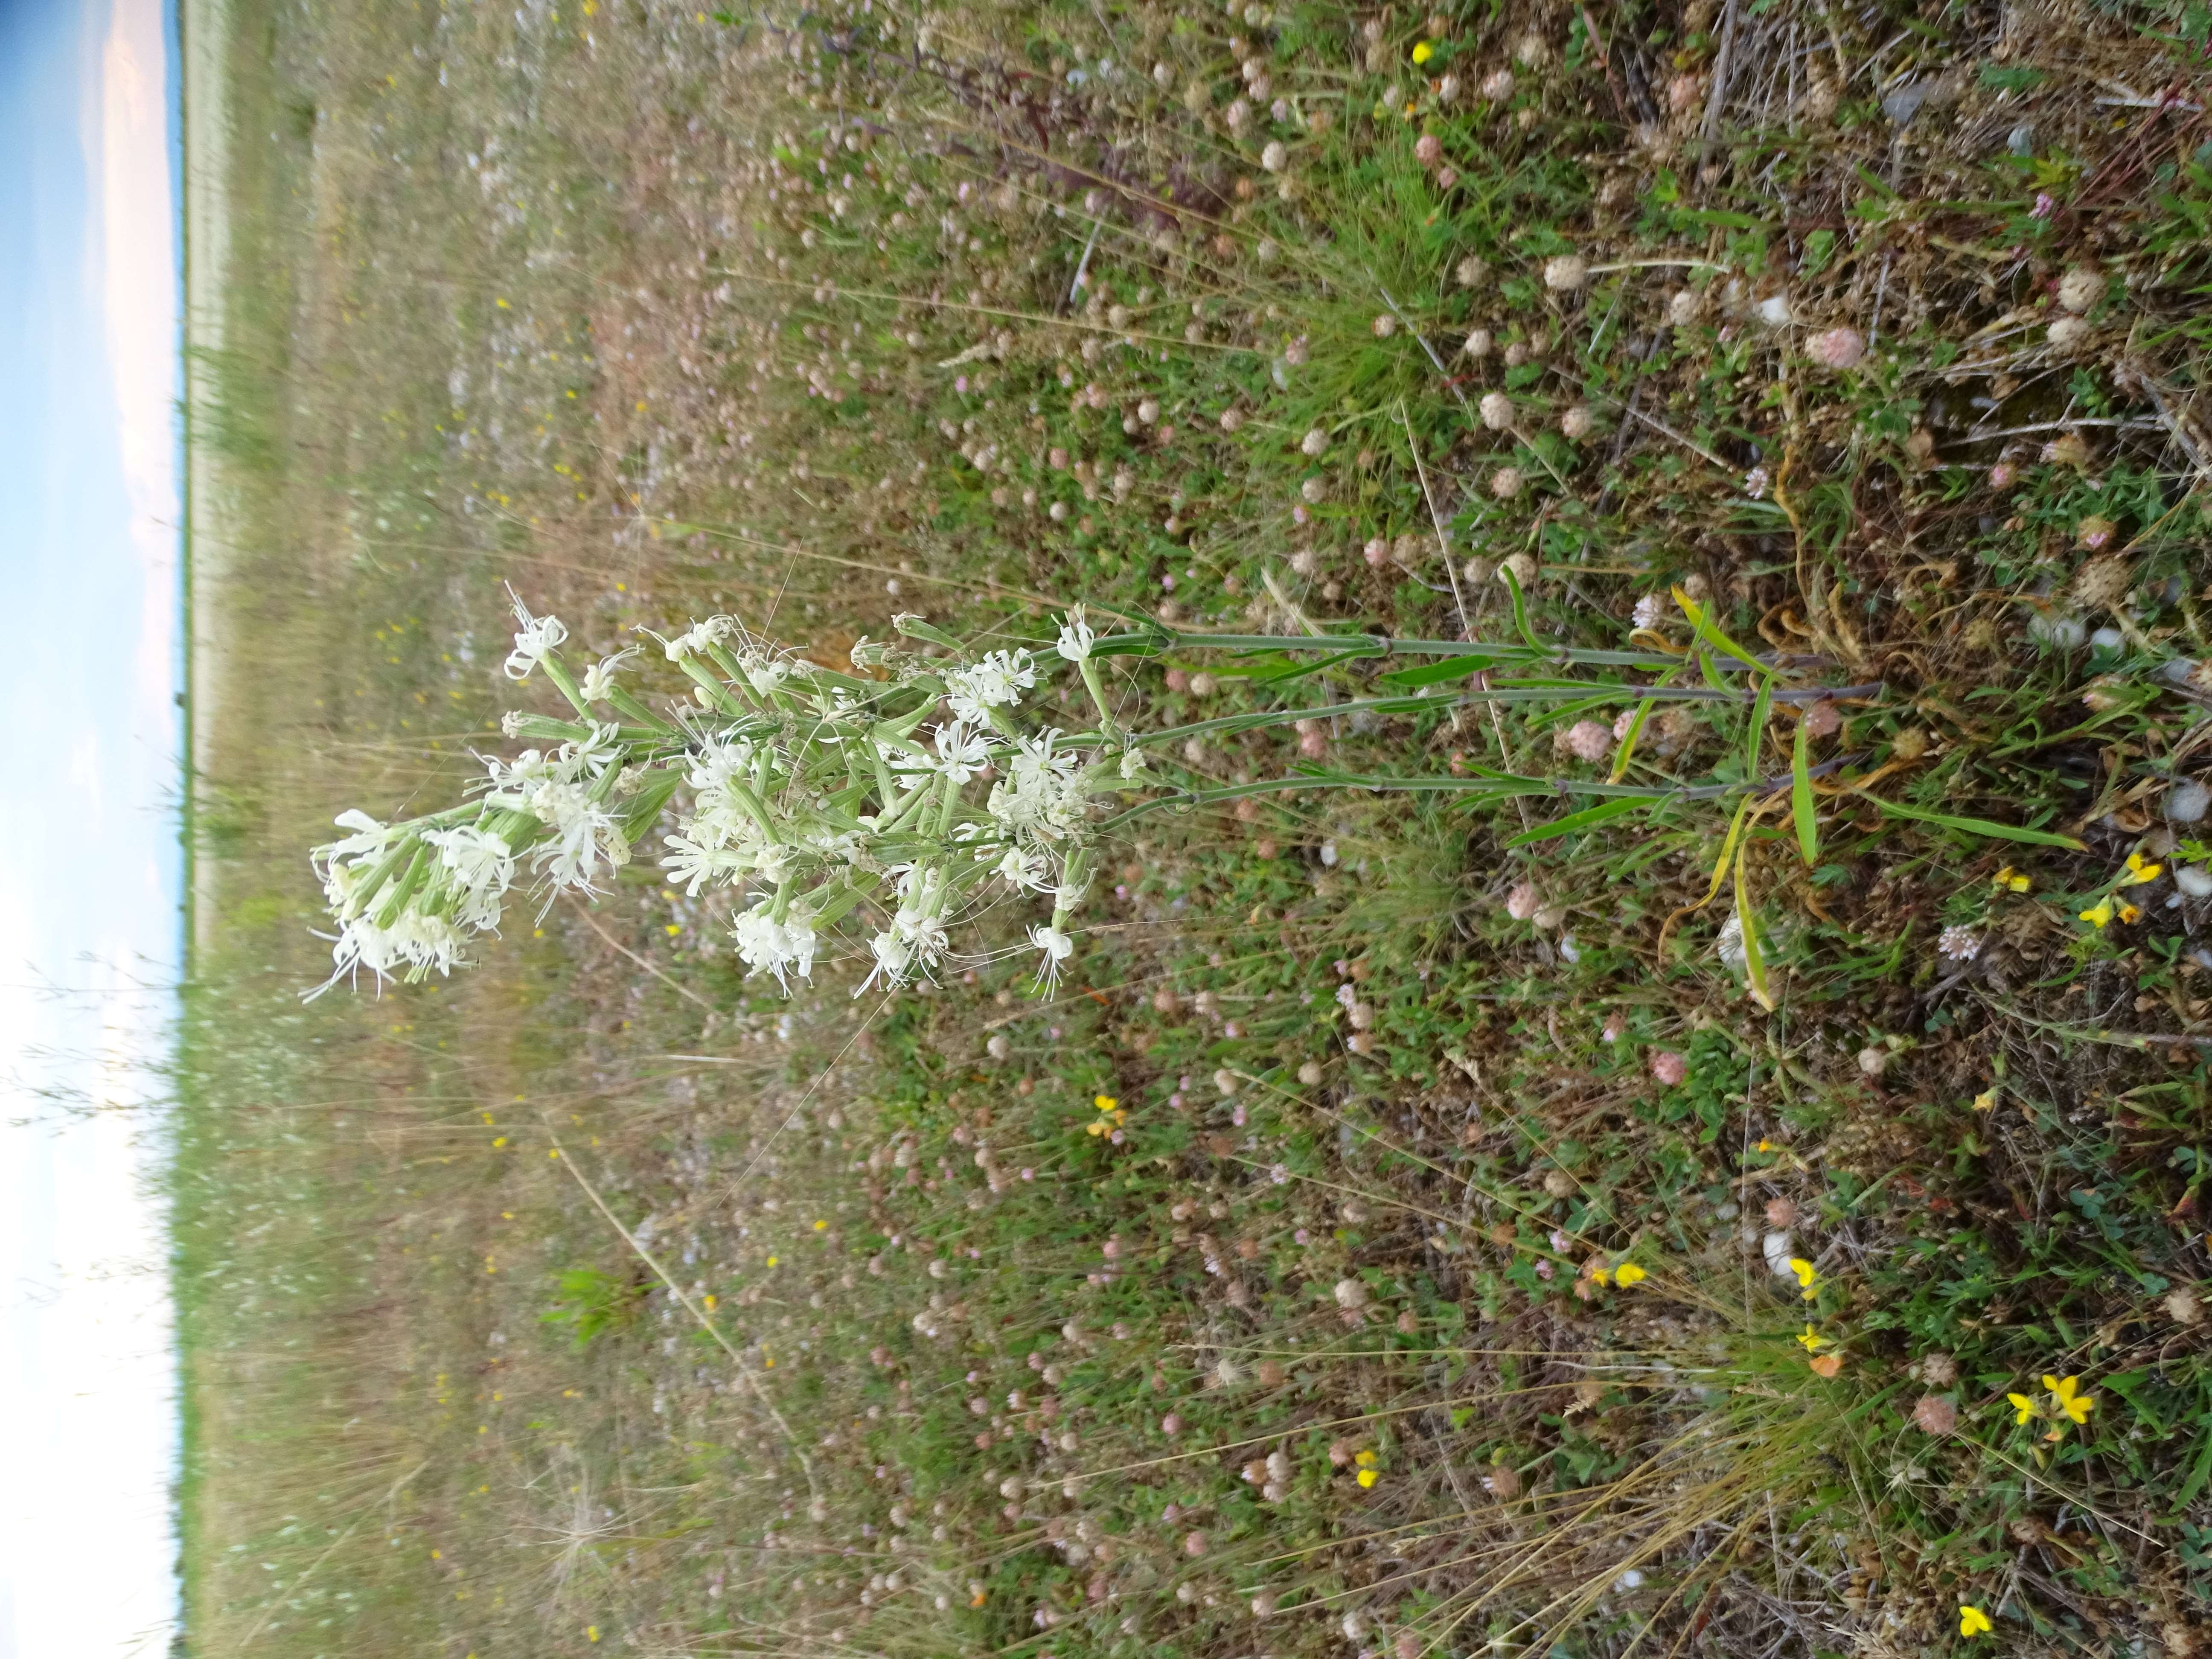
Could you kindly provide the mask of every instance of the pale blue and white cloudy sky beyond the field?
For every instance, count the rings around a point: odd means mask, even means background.
[[[164,0],[0,0],[0,1659],[150,1659],[175,1615],[173,64]]]

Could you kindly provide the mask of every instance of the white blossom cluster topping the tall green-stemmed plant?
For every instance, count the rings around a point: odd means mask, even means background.
[[[1018,726],[1040,668],[1020,648],[947,664],[860,641],[856,668],[896,668],[880,681],[708,617],[661,641],[692,701],[653,712],[622,686],[630,650],[575,679],[560,619],[520,602],[515,619],[509,677],[544,670],[580,719],[511,714],[507,734],[544,748],[487,761],[469,805],[400,825],[338,818],[354,834],[314,852],[338,922],[330,982],[356,969],[378,980],[451,971],[469,936],[498,929],[518,865],[542,902],[597,891],[679,801],[661,836],[668,880],[690,896],[750,898],[732,945],[785,991],[812,978],[847,918],[874,964],[863,989],[898,987],[933,978],[956,929],[1024,894],[1053,896],[1051,920],[1029,927],[1037,980],[1051,984],[1075,951],[1068,918],[1088,887],[1095,796],[1146,783],[1106,710],[1082,608],[1057,637],[1097,706],[1097,730],[1082,734]],[[918,617],[898,628],[960,650]]]

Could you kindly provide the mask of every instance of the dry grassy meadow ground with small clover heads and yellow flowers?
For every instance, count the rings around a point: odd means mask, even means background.
[[[2194,1648],[2201,9],[232,22],[192,1650]],[[301,1004],[303,849],[538,695],[502,582],[823,664],[1679,591],[1854,695],[1192,739],[1544,792],[1148,818],[1051,998],[783,1002],[641,856]],[[1405,684],[1272,666],[1117,692]]]

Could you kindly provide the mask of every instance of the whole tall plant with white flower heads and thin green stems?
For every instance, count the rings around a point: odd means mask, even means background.
[[[1522,617],[1517,588],[1515,617]],[[1155,807],[1316,785],[1471,790],[1493,799],[1610,796],[1562,818],[1557,834],[1566,834],[1582,821],[1630,807],[1772,787],[1756,779],[1703,787],[1624,785],[1635,728],[1606,781],[1482,768],[1467,779],[1374,779],[1305,768],[1243,785],[1179,787],[1148,770],[1146,748],[1336,714],[1433,710],[1429,699],[1444,695],[1588,703],[1595,692],[1637,699],[1644,712],[1659,701],[1721,699],[1750,706],[1752,719],[1763,723],[1767,701],[1878,690],[1776,688],[1790,664],[1741,650],[1734,650],[1739,661],[1730,661],[1699,644],[1688,653],[1551,646],[1526,624],[1522,644],[1172,635],[1157,626],[1102,637],[1075,606],[1048,648],[982,655],[920,617],[896,617],[902,639],[940,646],[951,657],[863,639],[852,650],[860,670],[854,675],[774,650],[734,617],[708,617],[659,639],[668,661],[690,677],[692,695],[657,712],[624,684],[635,646],[575,675],[562,659],[568,630],[557,617],[535,617],[518,599],[515,622],[507,677],[544,675],[575,719],[509,714],[507,737],[535,748],[487,759],[484,776],[462,805],[405,823],[378,823],[365,812],[336,821],[349,834],[312,854],[336,922],[330,936],[334,969],[310,995],[361,969],[376,980],[409,982],[449,973],[465,962],[476,936],[498,931],[518,883],[540,914],[562,891],[593,894],[630,863],[670,812],[672,827],[661,834],[659,852],[668,880],[692,896],[739,891],[748,902],[732,922],[737,953],[752,973],[774,975],[785,991],[792,980],[812,978],[818,958],[843,949],[865,951],[872,964],[865,984],[933,978],[951,960],[953,938],[967,922],[993,905],[1037,898],[1051,900],[1051,916],[1033,922],[1026,947],[1018,949],[1035,951],[1037,982],[1048,987],[1075,951],[1071,916],[1091,885],[1097,838]],[[1166,648],[1261,653],[1276,681],[1356,657],[1444,661],[1385,675],[1385,686],[1405,695],[1256,710],[1130,734],[1113,714],[1099,661]],[[1314,650],[1323,653],[1318,664],[1290,666],[1290,653]],[[1686,679],[1692,666],[1703,684],[1670,684]],[[1024,710],[1040,677],[1066,668],[1079,675],[1095,712],[1088,730],[1044,726]],[[1564,679],[1564,668],[1601,672],[1595,681]],[[1721,670],[1745,668],[1756,690],[1721,684]],[[1628,684],[1621,675],[1635,670],[1657,679]],[[876,672],[887,677],[876,679]],[[1146,799],[1117,814],[1104,812],[1119,792]]]

